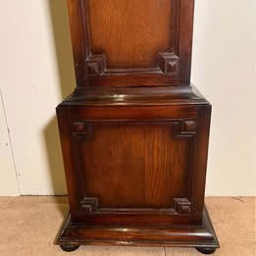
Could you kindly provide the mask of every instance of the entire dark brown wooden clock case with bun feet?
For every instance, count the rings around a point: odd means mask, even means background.
[[[192,0],[68,0],[77,78],[57,107],[70,214],[56,243],[219,242],[204,206],[211,105],[190,84]]]

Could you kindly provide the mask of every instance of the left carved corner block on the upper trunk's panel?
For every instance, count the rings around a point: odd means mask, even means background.
[[[86,60],[87,73],[89,76],[98,76],[106,70],[106,55],[91,55]]]

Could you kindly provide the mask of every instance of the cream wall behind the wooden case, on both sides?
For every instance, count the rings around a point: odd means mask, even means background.
[[[192,81],[213,104],[208,195],[255,194],[253,5],[196,0]],[[0,10],[0,195],[64,194],[55,107],[75,84],[66,0]]]

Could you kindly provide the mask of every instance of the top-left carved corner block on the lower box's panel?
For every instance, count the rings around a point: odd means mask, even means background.
[[[72,134],[78,139],[91,140],[93,137],[93,130],[90,124],[85,122],[74,122]]]

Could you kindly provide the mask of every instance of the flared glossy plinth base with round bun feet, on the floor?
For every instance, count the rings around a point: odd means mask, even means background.
[[[146,245],[196,247],[210,254],[219,248],[219,242],[206,208],[202,226],[178,226],[172,229],[157,227],[89,227],[72,225],[68,216],[56,243],[64,250],[72,251],[79,245]]]

